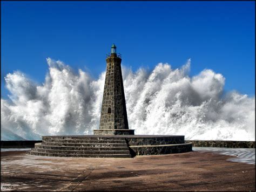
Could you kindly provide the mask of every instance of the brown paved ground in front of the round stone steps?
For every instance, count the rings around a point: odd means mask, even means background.
[[[24,151],[1,152],[1,190],[255,191],[254,164],[232,162],[230,159],[239,158],[218,154],[223,150],[195,150],[128,159],[44,157],[26,155]],[[240,154],[247,153],[239,150]],[[234,155],[234,151],[231,154]]]

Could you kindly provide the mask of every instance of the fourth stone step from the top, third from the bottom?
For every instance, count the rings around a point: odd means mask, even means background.
[[[35,145],[35,148],[40,149],[55,149],[55,150],[127,150],[128,147],[67,147],[67,146],[45,146],[45,145]]]

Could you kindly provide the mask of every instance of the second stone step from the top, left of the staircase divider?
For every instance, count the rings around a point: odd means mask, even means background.
[[[126,143],[125,140],[95,140],[95,139],[48,139],[43,142],[56,142],[56,143]]]

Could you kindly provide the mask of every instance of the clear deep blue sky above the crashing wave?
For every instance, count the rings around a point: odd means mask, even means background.
[[[191,76],[210,68],[225,90],[255,94],[255,2],[1,2],[4,76],[19,70],[43,83],[46,58],[98,78],[112,43],[136,71],[157,63]]]

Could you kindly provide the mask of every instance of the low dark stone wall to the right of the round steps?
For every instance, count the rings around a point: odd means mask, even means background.
[[[193,147],[255,148],[255,141],[186,141],[192,142]]]

